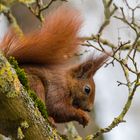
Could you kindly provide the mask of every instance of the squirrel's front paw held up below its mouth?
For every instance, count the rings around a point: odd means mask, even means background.
[[[88,124],[90,117],[86,112],[84,112],[82,110],[79,110],[79,113],[80,113],[80,118],[78,121],[80,124],[83,125],[83,127],[85,127]]]

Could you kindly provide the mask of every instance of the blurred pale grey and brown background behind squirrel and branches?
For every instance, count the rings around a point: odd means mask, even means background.
[[[124,12],[129,17],[131,14],[126,8],[123,0],[113,1],[118,7],[123,7]],[[132,7],[140,5],[140,0],[128,0]],[[49,12],[53,8],[58,7],[63,2],[56,1],[46,11]],[[97,34],[103,20],[104,9],[102,0],[69,0],[67,5],[76,7],[81,11],[84,19],[83,28],[80,32],[81,36],[91,36]],[[40,27],[39,21],[30,13],[30,11],[21,4],[15,4],[12,7],[13,15],[16,17],[18,24],[25,33]],[[120,15],[119,12],[116,15]],[[140,20],[140,11],[137,10],[136,18]],[[0,15],[0,40],[8,30],[8,21],[4,15]],[[111,23],[103,32],[103,37],[114,44],[118,44],[121,40],[134,40],[134,33],[128,26],[121,21],[111,18]],[[125,52],[124,52],[125,54]],[[137,55],[137,60],[140,60],[140,54]],[[133,78],[133,76],[132,76]],[[82,128],[76,124],[79,134],[85,137],[88,134],[96,132],[95,124],[103,128],[108,126],[112,120],[119,115],[127,100],[128,91],[124,86],[118,86],[117,81],[125,81],[123,71],[118,63],[115,66],[109,65],[106,68],[101,68],[94,77],[96,83],[96,98],[94,111],[90,113],[93,118],[86,128]],[[140,139],[140,90],[134,96],[133,103],[127,115],[125,116],[126,123],[121,123],[109,133],[103,134],[104,140],[139,140]],[[58,125],[62,132],[64,125]]]

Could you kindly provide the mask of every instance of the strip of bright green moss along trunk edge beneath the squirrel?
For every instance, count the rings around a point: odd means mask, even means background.
[[[12,67],[15,69],[18,78],[21,82],[21,84],[24,86],[24,88],[27,90],[29,96],[31,97],[31,99],[34,101],[35,106],[39,109],[39,111],[41,112],[42,116],[47,119],[48,118],[48,113],[47,113],[47,109],[46,106],[44,105],[44,103],[37,97],[36,93],[30,89],[29,86],[29,82],[28,82],[28,78],[27,75],[24,71],[24,69],[21,69],[18,66],[18,62],[15,60],[14,57],[10,57],[9,58],[9,62],[12,65]]]

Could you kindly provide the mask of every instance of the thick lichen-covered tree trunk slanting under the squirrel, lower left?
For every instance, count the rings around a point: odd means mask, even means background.
[[[59,140],[0,53],[0,133],[13,139]]]

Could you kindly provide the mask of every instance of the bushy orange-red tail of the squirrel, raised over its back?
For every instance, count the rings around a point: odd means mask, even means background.
[[[61,6],[47,16],[41,30],[21,38],[11,31],[0,48],[20,63],[59,64],[77,50],[81,23],[77,10]]]

